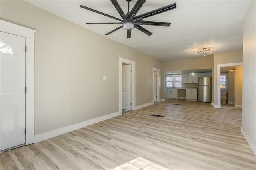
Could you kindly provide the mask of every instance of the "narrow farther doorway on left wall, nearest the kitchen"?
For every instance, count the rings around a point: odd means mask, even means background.
[[[159,100],[159,72],[160,69],[153,67],[153,101],[158,103]]]

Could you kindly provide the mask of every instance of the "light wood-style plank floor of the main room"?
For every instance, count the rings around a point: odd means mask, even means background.
[[[164,101],[4,152],[0,168],[255,170],[241,123],[239,110]]]

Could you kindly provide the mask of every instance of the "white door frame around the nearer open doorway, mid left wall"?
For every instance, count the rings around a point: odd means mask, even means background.
[[[132,89],[131,89],[131,109],[132,111],[135,110],[135,61],[131,61],[128,59],[124,59],[119,57],[119,114],[122,115],[122,63],[131,65],[131,85],[132,85]]]

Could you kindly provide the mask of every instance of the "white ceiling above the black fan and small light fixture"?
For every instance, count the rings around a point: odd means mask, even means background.
[[[80,5],[121,18],[110,0],[35,0],[28,1],[48,12],[92,30],[102,36],[120,25],[87,25],[86,22],[118,22],[112,18],[80,8]],[[127,12],[126,0],[118,1]],[[130,10],[136,0],[130,3]],[[126,39],[126,29],[121,28],[106,36],[161,61],[198,57],[203,47],[213,48],[212,53],[242,50],[243,18],[251,1],[170,1],[148,0],[137,15],[176,2],[177,8],[144,20],[171,22],[169,27],[143,26],[153,34],[148,36],[133,28]]]

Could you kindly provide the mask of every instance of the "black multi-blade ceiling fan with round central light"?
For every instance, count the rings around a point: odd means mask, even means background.
[[[116,18],[114,16],[110,16],[108,14],[94,10],[92,8],[88,8],[83,5],[80,5],[80,7],[84,8],[86,10],[90,10],[92,12],[96,12],[98,14],[107,16],[109,18],[113,18],[115,20],[118,20],[119,22],[98,22],[98,23],[86,23],[86,24],[122,24],[122,26],[108,32],[105,35],[109,35],[115,31],[119,30],[120,28],[124,27],[127,29],[127,38],[131,37],[132,28],[136,28],[136,29],[144,32],[148,36],[153,34],[152,32],[146,30],[145,28],[143,28],[140,25],[166,26],[166,27],[170,26],[170,24],[171,24],[170,22],[144,21],[143,19],[176,8],[176,3],[173,3],[170,5],[163,6],[161,8],[157,8],[156,10],[152,10],[152,11],[149,11],[144,14],[140,14],[140,15],[136,16],[136,14],[140,10],[140,8],[143,6],[143,4],[146,2],[146,0],[137,0],[136,4],[134,5],[134,7],[132,8],[131,11],[130,11],[130,3],[129,3],[131,0],[126,0],[128,2],[128,12],[126,14],[124,14],[124,11],[122,10],[121,6],[118,4],[117,0],[110,0],[110,1],[112,2],[112,4],[116,8],[116,10],[118,11],[118,13],[120,14],[122,19]]]

